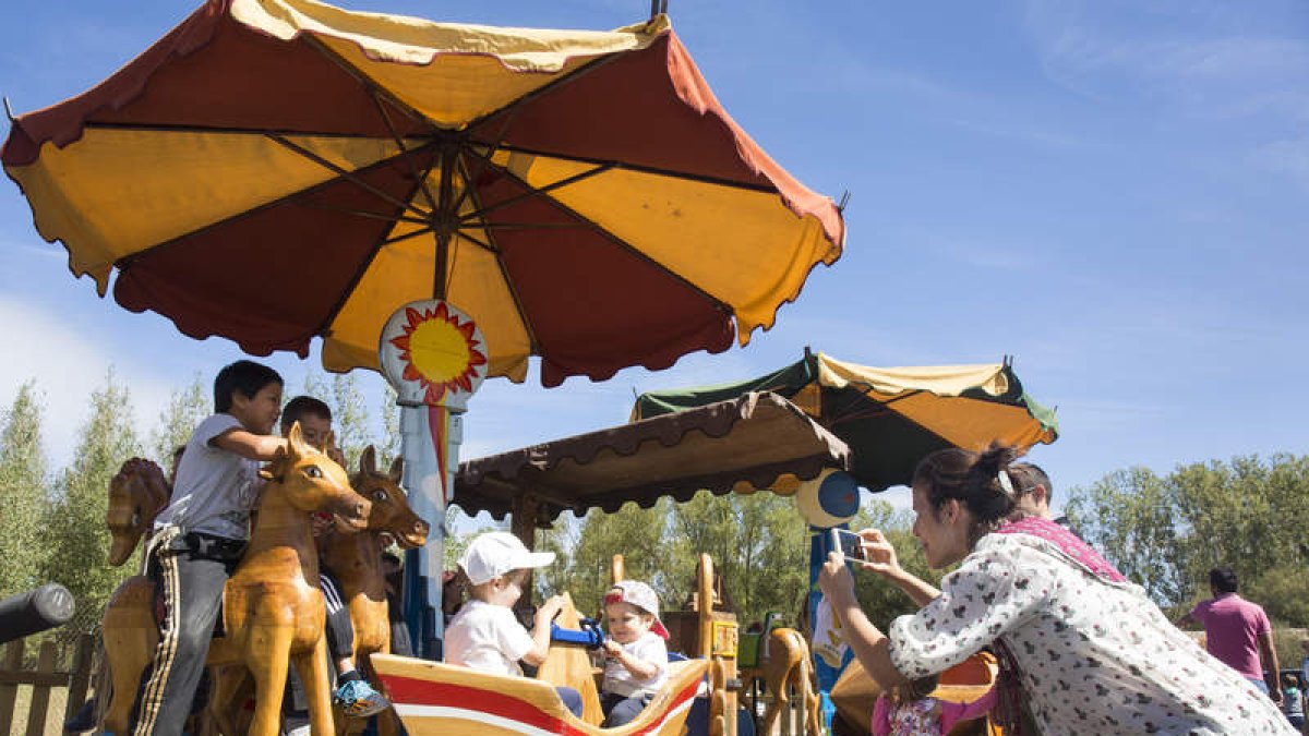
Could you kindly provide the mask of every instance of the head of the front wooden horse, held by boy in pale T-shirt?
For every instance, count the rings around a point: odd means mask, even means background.
[[[264,496],[280,494],[300,511],[326,511],[352,529],[368,526],[372,503],[355,492],[340,465],[305,443],[300,422],[287,432],[287,449],[279,449],[259,477],[268,482]]]

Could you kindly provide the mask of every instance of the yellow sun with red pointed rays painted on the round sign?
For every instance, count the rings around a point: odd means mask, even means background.
[[[474,381],[487,364],[484,347],[471,320],[446,309],[445,303],[435,308],[404,309],[404,334],[390,343],[401,351],[404,380],[419,381],[429,405],[440,403],[449,392],[473,393]]]

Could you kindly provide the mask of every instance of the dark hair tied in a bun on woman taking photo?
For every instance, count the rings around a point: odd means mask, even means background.
[[[940,449],[918,464],[914,487],[923,488],[933,513],[950,499],[963,504],[977,520],[977,529],[973,532],[975,541],[1013,511],[1017,487],[1016,479],[1008,477],[1008,468],[1017,457],[1017,448],[997,443],[982,452]],[[1001,470],[1005,471],[1008,487],[1000,479]]]

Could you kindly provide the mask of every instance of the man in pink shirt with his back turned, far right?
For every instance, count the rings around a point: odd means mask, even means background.
[[[1195,604],[1187,617],[1204,626],[1206,647],[1211,655],[1280,703],[1272,625],[1262,606],[1237,595],[1237,575],[1230,567],[1210,570],[1213,597]]]

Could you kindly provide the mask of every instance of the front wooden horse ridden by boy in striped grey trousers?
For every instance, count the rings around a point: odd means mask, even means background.
[[[330,733],[325,604],[306,512],[331,512],[363,529],[370,503],[350,487],[339,465],[304,443],[298,424],[288,433],[287,449],[259,474],[267,483],[254,532],[223,595],[225,638],[211,646],[207,661],[240,661],[254,674],[257,706],[249,733],[257,736],[276,736],[293,663],[305,684],[313,731]],[[105,650],[114,678],[106,731],[126,731],[137,682],[158,643],[153,600],[153,583],[136,576],[119,585],[106,608]]]

